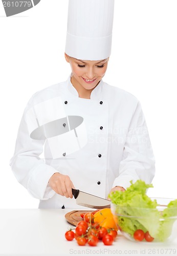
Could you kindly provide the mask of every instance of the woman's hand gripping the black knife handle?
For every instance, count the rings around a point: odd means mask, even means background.
[[[73,198],[72,188],[75,188],[68,175],[55,173],[49,180],[49,186],[59,195]]]

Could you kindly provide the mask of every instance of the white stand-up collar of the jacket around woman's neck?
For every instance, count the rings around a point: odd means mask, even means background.
[[[67,80],[67,87],[70,93],[72,93],[75,97],[79,97],[79,94],[77,90],[74,88],[73,84],[71,83],[71,75],[69,76]],[[98,86],[91,92],[91,99],[100,99],[102,95],[102,87],[103,87],[103,81],[100,80]]]

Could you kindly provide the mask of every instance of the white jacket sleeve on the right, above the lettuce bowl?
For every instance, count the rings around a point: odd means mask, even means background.
[[[126,189],[131,180],[135,182],[139,179],[149,184],[154,174],[155,160],[144,114],[138,102],[127,132],[119,176],[115,179],[113,187],[122,186]]]

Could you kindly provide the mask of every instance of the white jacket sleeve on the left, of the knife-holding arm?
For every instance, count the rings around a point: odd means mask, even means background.
[[[55,191],[49,187],[48,182],[54,173],[58,173],[39,157],[44,144],[45,140],[31,139],[24,112],[10,165],[17,181],[27,188],[33,197],[40,200],[54,196]]]

